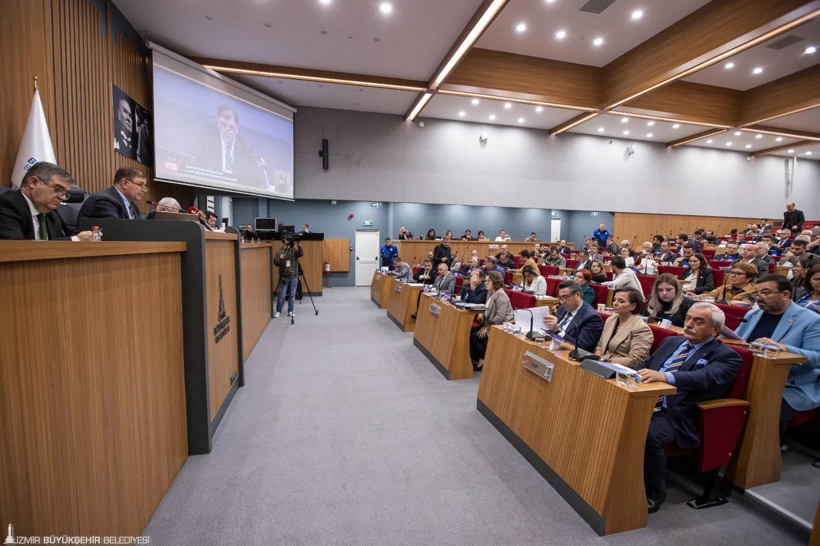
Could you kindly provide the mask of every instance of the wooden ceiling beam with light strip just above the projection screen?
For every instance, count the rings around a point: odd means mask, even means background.
[[[294,66],[266,65],[261,62],[228,61],[207,57],[189,57],[191,61],[210,68],[212,71],[228,72],[230,74],[258,75],[267,78],[283,78],[285,80],[307,80],[327,84],[358,85],[359,87],[376,87],[380,89],[398,89],[401,91],[424,91],[426,81],[403,80],[400,78],[385,78],[366,74],[351,74],[349,72],[317,71],[310,68]]]

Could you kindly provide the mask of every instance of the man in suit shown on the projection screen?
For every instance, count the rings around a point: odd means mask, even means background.
[[[221,104],[216,109],[217,130],[210,130],[200,143],[197,166],[221,171],[235,178],[239,184],[266,188],[262,168],[253,157],[253,146],[239,135],[239,115]]]

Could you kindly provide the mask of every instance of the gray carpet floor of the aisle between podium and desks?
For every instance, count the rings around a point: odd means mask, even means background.
[[[151,544],[805,544],[745,499],[594,534],[447,381],[367,288],[271,321],[212,453],[189,457],[144,530]]]

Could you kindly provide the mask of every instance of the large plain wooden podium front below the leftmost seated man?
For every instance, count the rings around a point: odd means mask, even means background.
[[[0,242],[0,513],[17,535],[139,535],[188,453],[180,254],[43,244],[83,257]]]

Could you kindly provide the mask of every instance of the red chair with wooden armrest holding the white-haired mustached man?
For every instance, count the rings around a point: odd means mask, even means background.
[[[745,400],[746,385],[749,384],[749,375],[752,371],[754,355],[749,349],[735,347],[743,364],[727,392],[727,398],[701,402],[695,410],[700,447],[697,449],[682,449],[676,444],[668,446],[667,457],[689,455],[697,462],[698,471],[706,473],[706,485],[699,498],[693,498],[688,503],[692,508],[708,508],[726,504],[726,498],[718,494],[718,478],[722,467],[729,464],[732,454],[735,453],[740,435],[749,419],[749,402]]]

